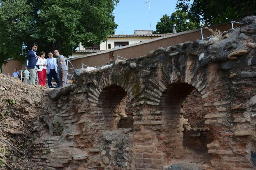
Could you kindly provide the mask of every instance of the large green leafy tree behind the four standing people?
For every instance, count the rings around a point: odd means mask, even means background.
[[[38,51],[69,56],[81,42],[99,44],[114,32],[119,0],[0,0],[0,62],[25,60],[32,43]]]

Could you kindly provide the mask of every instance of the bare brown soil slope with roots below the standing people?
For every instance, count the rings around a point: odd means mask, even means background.
[[[44,132],[40,115],[45,103],[41,101],[47,100],[48,92],[45,87],[29,86],[0,74],[0,158],[12,169],[42,169],[30,158],[35,149],[33,141]],[[4,163],[1,166],[8,169]]]

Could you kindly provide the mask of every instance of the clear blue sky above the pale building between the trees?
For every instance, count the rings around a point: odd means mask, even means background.
[[[151,29],[156,30],[157,22],[167,14],[176,11],[176,0],[120,0],[114,10],[115,23],[118,24],[115,34],[133,34],[134,30],[150,30],[148,4],[150,2]]]

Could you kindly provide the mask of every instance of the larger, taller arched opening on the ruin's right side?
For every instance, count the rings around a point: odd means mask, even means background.
[[[172,84],[163,96],[162,109],[166,120],[167,161],[199,159],[208,162],[207,144],[213,141],[211,130],[205,126],[205,111],[200,92],[186,83]],[[193,155],[199,157],[193,158]],[[190,158],[189,158],[190,156]]]

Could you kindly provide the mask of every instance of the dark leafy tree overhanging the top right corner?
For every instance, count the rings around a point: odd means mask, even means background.
[[[177,9],[204,25],[221,23],[256,14],[255,0],[177,0]]]

